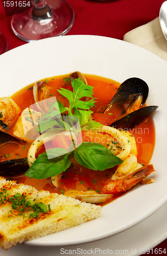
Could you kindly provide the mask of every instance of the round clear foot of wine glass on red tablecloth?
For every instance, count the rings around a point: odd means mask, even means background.
[[[74,11],[64,0],[33,0],[33,8],[14,14],[13,32],[20,39],[32,42],[65,35],[74,23]]]

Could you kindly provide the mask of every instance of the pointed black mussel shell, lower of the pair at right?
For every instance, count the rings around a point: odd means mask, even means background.
[[[146,120],[152,113],[157,110],[158,106],[145,106],[139,110],[129,113],[121,119],[113,122],[110,126],[117,129],[133,129]]]

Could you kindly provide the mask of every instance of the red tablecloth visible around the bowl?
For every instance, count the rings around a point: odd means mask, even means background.
[[[67,2],[75,12],[74,25],[67,35],[100,35],[123,40],[124,34],[128,31],[156,18],[164,0],[67,0]],[[9,50],[27,44],[14,35],[11,29],[11,16],[6,17],[1,0],[0,31],[8,41]],[[156,248],[167,248],[167,239]],[[154,254],[150,252],[150,255]]]

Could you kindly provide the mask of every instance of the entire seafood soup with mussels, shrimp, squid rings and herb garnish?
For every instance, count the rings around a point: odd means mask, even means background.
[[[0,135],[11,135],[0,140],[0,175],[97,204],[154,182],[146,177],[157,106],[146,106],[142,79],[121,86],[123,93],[112,79],[74,72],[0,98]]]

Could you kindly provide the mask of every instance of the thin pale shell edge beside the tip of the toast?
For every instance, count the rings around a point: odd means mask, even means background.
[[[75,195],[70,196],[72,198],[78,199],[81,202],[91,203],[91,204],[101,204],[112,199],[113,195],[108,194],[95,194],[95,195]]]

